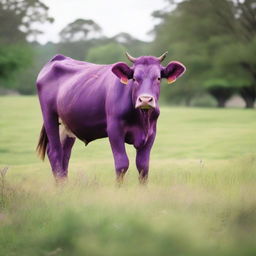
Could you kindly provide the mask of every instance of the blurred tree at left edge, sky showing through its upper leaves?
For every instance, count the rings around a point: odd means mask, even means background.
[[[14,74],[32,64],[33,50],[27,39],[41,33],[36,24],[52,21],[40,0],[0,0],[0,86],[23,86],[17,85]]]

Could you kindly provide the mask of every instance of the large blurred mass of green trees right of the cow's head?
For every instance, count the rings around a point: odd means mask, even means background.
[[[219,105],[225,105],[223,101],[236,89],[246,106],[252,107],[256,87],[256,58],[252,57],[256,47],[256,1],[169,2],[176,4],[174,10],[153,13],[161,21],[153,30],[153,50],[167,48],[184,61],[188,72],[183,82],[191,86],[192,97],[200,87],[214,95]]]

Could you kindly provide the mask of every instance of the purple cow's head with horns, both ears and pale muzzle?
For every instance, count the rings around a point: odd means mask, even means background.
[[[120,79],[121,83],[128,84],[131,80],[128,86],[132,86],[132,101],[136,109],[156,108],[161,79],[166,78],[170,84],[185,72],[185,66],[178,61],[171,61],[166,67],[162,66],[161,62],[166,55],[167,52],[160,57],[134,58],[126,53],[133,66],[129,67],[126,63],[119,62],[112,67],[112,72]]]

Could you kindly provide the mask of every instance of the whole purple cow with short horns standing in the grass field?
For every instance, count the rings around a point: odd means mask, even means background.
[[[117,181],[122,182],[129,166],[125,142],[136,148],[139,180],[147,181],[161,79],[172,83],[185,72],[178,61],[163,67],[166,54],[134,58],[126,53],[131,67],[56,55],[43,67],[37,79],[44,119],[37,150],[42,159],[47,151],[57,181],[68,175],[76,138],[87,145],[104,137],[110,141]]]

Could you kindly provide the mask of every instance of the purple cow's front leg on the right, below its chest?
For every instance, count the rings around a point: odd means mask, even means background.
[[[150,151],[155,140],[155,134],[151,135],[148,142],[137,149],[136,166],[139,172],[140,184],[146,184],[148,180]]]

